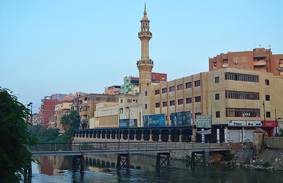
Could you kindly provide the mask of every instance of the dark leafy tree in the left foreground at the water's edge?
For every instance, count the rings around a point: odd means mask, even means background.
[[[38,143],[27,131],[30,111],[12,93],[0,87],[0,180],[4,183],[22,181],[31,160],[29,148]]]

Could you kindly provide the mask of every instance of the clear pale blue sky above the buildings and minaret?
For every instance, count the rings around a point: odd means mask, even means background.
[[[208,71],[208,57],[268,48],[283,54],[282,0],[146,0],[153,72],[168,81]],[[0,86],[34,103],[103,93],[138,76],[144,0],[0,0]]]

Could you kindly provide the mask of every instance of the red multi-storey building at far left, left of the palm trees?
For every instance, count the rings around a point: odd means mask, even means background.
[[[49,98],[49,99],[47,99]],[[41,106],[39,109],[40,124],[43,124],[44,128],[47,128],[48,119],[55,114],[55,105],[58,100],[53,100],[51,97],[44,97],[41,99]]]

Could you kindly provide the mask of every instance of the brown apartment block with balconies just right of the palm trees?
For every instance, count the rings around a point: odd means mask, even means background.
[[[97,103],[118,102],[119,95],[88,94],[72,100],[71,110],[77,110],[81,116],[81,128],[89,128],[89,119],[94,117]]]

